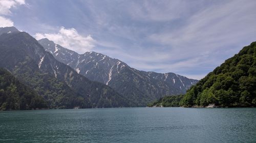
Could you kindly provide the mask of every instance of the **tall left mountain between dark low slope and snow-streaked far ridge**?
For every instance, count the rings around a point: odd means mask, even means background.
[[[25,32],[0,36],[0,67],[44,97],[50,108],[123,107],[129,100],[54,59]]]

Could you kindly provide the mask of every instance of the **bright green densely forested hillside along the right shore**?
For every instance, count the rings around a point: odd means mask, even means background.
[[[238,54],[226,60],[193,85],[180,98],[161,98],[148,106],[208,106],[255,107],[256,106],[256,42],[244,47]]]

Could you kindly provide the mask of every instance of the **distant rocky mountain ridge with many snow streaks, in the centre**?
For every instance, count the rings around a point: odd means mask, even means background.
[[[56,60],[90,80],[109,85],[131,99],[134,106],[145,106],[146,103],[166,95],[184,94],[198,81],[174,73],[139,71],[101,53],[78,54],[46,38],[38,42],[46,51],[52,53]]]

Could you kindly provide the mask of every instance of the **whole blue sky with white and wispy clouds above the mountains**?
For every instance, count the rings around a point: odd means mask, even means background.
[[[138,70],[201,79],[256,41],[255,8],[254,0],[0,0],[0,27]]]

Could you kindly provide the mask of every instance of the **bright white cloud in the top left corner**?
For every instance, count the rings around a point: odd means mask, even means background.
[[[11,8],[25,5],[25,0],[1,0],[0,1],[0,27],[13,26],[13,21],[4,16],[10,15]]]

